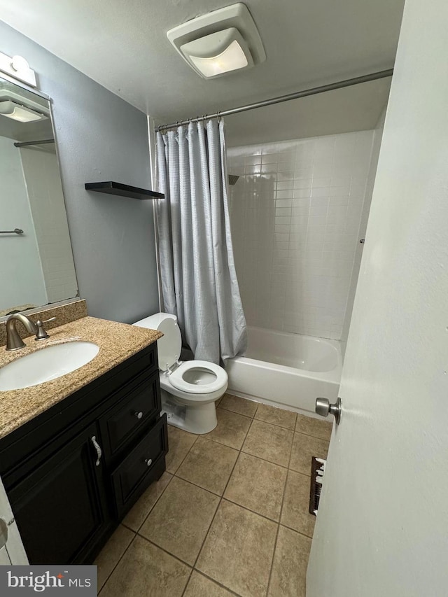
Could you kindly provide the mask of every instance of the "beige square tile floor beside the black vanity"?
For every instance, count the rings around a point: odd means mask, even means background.
[[[167,471],[97,557],[101,597],[302,597],[311,456],[331,425],[225,394],[218,426],[169,426]]]

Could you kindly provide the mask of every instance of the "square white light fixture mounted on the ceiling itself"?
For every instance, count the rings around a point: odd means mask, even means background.
[[[183,59],[206,79],[249,69],[266,59],[258,29],[242,3],[174,27],[167,37]]]

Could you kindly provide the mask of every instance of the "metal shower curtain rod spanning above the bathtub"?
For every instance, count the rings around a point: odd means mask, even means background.
[[[255,108],[272,106],[272,104],[280,104],[282,101],[289,101],[290,99],[299,99],[300,97],[307,97],[309,95],[325,93],[325,91],[342,89],[343,87],[350,87],[351,85],[358,85],[359,83],[367,83],[367,81],[391,77],[392,74],[393,69],[388,69],[386,71],[378,71],[377,73],[370,73],[369,75],[363,75],[360,77],[346,79],[343,81],[337,81],[336,83],[328,83],[328,85],[321,85],[320,87],[311,87],[311,89],[305,89],[303,91],[297,91],[295,93],[288,93],[287,95],[279,95],[278,97],[272,97],[271,99],[265,99],[264,101],[257,101],[255,102],[255,104],[247,104],[247,106],[239,106],[239,108],[230,108],[230,110],[218,111],[215,114],[205,114],[204,116],[197,116],[196,118],[188,118],[188,120],[172,122],[170,125],[162,125],[160,127],[155,127],[155,131],[165,131],[167,129],[174,129],[181,125],[188,125],[189,122],[202,122],[202,120],[207,120],[209,118],[229,116],[230,114],[246,112],[247,110],[253,110]]]

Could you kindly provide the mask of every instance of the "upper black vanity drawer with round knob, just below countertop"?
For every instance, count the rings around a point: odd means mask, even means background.
[[[141,377],[118,405],[99,419],[106,458],[115,456],[128,440],[160,413],[159,372]]]

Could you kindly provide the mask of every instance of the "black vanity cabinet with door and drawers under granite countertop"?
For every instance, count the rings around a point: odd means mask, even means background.
[[[0,440],[0,475],[29,562],[90,563],[165,470],[152,344]]]

